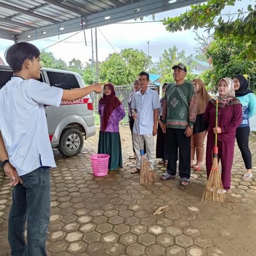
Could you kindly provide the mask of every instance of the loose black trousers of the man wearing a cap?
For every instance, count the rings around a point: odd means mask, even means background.
[[[176,175],[179,148],[179,176],[190,179],[190,137],[187,138],[184,132],[184,129],[166,128],[167,172]]]

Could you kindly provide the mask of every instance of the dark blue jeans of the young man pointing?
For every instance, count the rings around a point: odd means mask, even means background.
[[[45,244],[51,215],[50,168],[38,168],[20,176],[13,187],[8,239],[12,256],[46,256]],[[24,226],[27,220],[27,244]]]

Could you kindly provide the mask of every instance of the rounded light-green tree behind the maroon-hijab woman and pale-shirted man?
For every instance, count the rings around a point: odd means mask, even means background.
[[[137,79],[138,74],[151,64],[151,56],[137,49],[123,49],[120,54],[108,56],[101,65],[101,80],[113,84],[130,84]]]

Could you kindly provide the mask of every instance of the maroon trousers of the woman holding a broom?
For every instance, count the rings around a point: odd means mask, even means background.
[[[234,142],[233,143],[224,143],[218,141],[218,158],[221,160],[221,180],[223,188],[225,190],[230,189],[230,179],[231,179],[231,169],[233,164],[234,157]],[[214,148],[214,140],[207,139],[207,148],[206,148],[206,170],[207,178],[211,173],[212,168],[212,150]]]

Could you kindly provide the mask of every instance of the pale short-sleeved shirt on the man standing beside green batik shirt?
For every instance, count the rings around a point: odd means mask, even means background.
[[[154,109],[160,108],[158,93],[147,89],[144,94],[138,91],[134,94],[131,108],[137,111],[138,131],[141,135],[152,134],[154,126]],[[136,125],[133,126],[133,133],[138,133]]]

